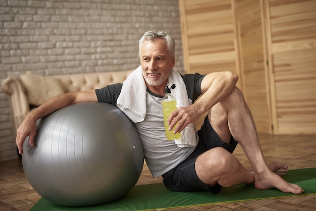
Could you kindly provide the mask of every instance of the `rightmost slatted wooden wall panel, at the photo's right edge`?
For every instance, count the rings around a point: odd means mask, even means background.
[[[316,133],[316,1],[271,0],[275,133]]]

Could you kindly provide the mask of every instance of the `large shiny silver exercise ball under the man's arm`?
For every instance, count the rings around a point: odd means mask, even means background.
[[[22,163],[34,190],[62,206],[90,206],[123,197],[138,181],[144,154],[134,124],[115,105],[78,103],[37,122]]]

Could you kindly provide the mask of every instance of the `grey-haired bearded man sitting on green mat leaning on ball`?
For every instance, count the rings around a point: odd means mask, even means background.
[[[22,144],[28,135],[30,145],[34,145],[39,118],[73,103],[108,102],[117,104],[135,122],[153,177],[162,175],[166,187],[171,190],[218,193],[222,186],[253,183],[258,189],[278,188],[283,192],[302,193],[301,187],[280,177],[287,172],[286,164],[274,162],[267,165],[265,162],[252,116],[242,93],[235,86],[238,76],[231,72],[181,76],[173,70],[174,46],[173,38],[167,33],[146,32],[139,41],[141,66],[123,85],[71,92],[47,100],[29,113],[18,128],[19,152],[23,153]],[[175,133],[181,132],[182,141],[191,141],[191,145],[167,141],[164,133],[161,99],[165,86],[173,82],[178,83],[175,90],[185,106],[170,115],[169,129],[178,123]],[[131,96],[133,89],[135,95]],[[124,94],[130,98],[122,97]],[[144,103],[139,103],[142,102],[139,98]],[[134,103],[136,110],[138,106],[144,106],[140,111],[144,114],[131,112]],[[192,138],[191,124],[207,111],[198,136],[195,139],[193,131]],[[193,140],[187,140],[187,137]],[[237,142],[243,147],[253,171],[245,170],[232,155]]]

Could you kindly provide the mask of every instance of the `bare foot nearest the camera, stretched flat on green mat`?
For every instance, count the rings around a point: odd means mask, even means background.
[[[262,173],[260,175],[255,174],[254,187],[257,189],[277,188],[284,193],[300,194],[304,192],[300,186],[285,181],[273,172]]]

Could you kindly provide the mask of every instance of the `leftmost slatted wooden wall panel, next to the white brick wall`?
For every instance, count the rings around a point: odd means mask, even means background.
[[[179,0],[187,73],[238,74],[231,0]]]

